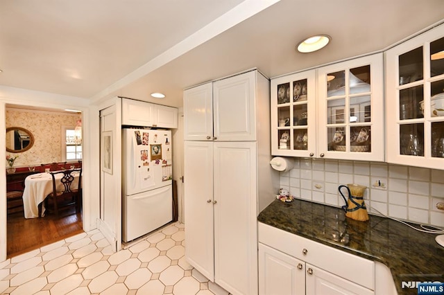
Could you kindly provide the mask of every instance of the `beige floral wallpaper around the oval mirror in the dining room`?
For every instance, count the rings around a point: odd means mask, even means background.
[[[62,161],[62,127],[74,127],[78,114],[6,108],[6,128],[22,127],[34,136],[34,145],[26,152],[6,155],[19,156],[14,167],[40,166],[41,163]],[[5,166],[8,163],[4,162]]]

